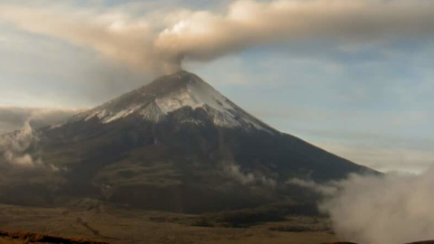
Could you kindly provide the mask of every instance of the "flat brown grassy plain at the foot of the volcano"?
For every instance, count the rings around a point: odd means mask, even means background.
[[[137,211],[91,201],[78,202],[71,208],[50,209],[0,205],[0,230],[82,237],[110,243],[309,244],[337,241],[329,230],[328,221],[322,218],[287,216],[280,221],[251,224],[240,222],[237,214],[250,216],[242,211],[205,215]],[[0,244],[9,243],[25,241],[0,238]]]

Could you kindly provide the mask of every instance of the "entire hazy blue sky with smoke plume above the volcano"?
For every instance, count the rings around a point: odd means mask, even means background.
[[[382,172],[421,173],[434,161],[433,6],[2,0],[0,133],[185,69],[282,132]]]

